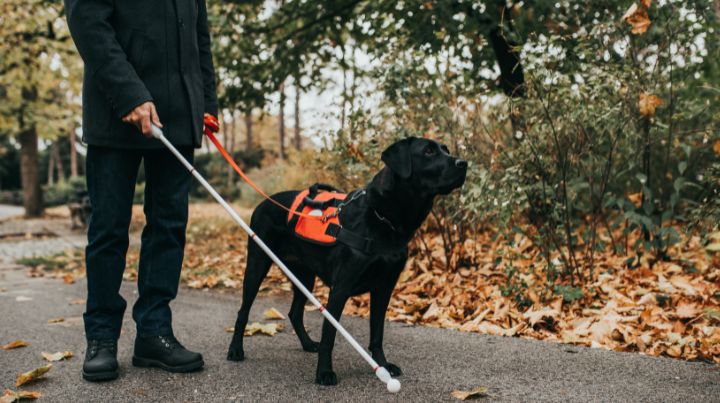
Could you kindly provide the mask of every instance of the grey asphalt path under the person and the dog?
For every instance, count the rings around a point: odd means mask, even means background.
[[[402,390],[390,394],[367,364],[338,335],[334,354],[339,384],[313,383],[316,357],[303,352],[286,329],[274,336],[246,340],[246,360],[225,360],[239,293],[182,289],[173,303],[175,332],[188,347],[205,356],[205,369],[169,374],[131,365],[135,329],[126,313],[120,338],[120,378],[94,384],[81,379],[85,350],[82,327],[85,283],[29,278],[18,266],[0,266],[0,344],[15,339],[29,347],[0,350],[0,388],[15,389],[17,374],[45,364],[42,351],[72,351],[75,357],[54,368],[25,390],[43,394],[49,402],[226,402],[226,401],[453,401],[453,390],[486,386],[489,401],[720,401],[720,370],[716,365],[640,354],[576,347],[550,342],[462,333],[452,330],[389,323],[385,351],[403,371]],[[132,306],[135,284],[122,293]],[[289,296],[260,297],[251,321],[262,313],[289,308]],[[129,309],[128,309],[129,311]],[[48,320],[64,318],[58,324]],[[320,333],[321,316],[308,312],[310,335]],[[349,331],[367,345],[368,321],[344,317]]]

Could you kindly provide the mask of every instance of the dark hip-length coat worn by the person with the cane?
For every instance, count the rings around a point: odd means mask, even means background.
[[[153,101],[175,145],[199,147],[203,113],[217,115],[205,0],[65,0],[85,61],[83,140],[159,148],[121,118]]]

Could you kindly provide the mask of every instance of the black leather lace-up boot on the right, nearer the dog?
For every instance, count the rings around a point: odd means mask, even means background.
[[[135,339],[133,365],[157,367],[169,372],[196,371],[205,365],[202,354],[188,351],[175,336],[149,336]]]

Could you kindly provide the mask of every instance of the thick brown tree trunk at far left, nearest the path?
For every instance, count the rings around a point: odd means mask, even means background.
[[[18,136],[20,140],[20,176],[22,177],[23,205],[26,217],[40,217],[43,213],[40,189],[38,136],[31,126]]]

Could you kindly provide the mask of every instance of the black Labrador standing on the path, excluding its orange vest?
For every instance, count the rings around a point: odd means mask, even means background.
[[[467,162],[448,153],[444,145],[427,139],[406,138],[382,153],[383,168],[365,192],[353,192],[340,212],[343,228],[372,239],[379,247],[368,253],[342,243],[316,245],[294,236],[287,225],[287,212],[269,201],[254,211],[250,226],[282,259],[309,290],[315,276],[330,287],[327,310],[340,320],[347,300],[370,292],[370,352],[379,365],[391,375],[401,374],[400,368],[389,363],[383,352],[383,326],[390,296],[405,267],[407,244],[430,212],[435,196],[446,195],[465,182]],[[290,207],[299,192],[287,191],[273,196]],[[353,197],[355,196],[355,197]],[[235,334],[228,351],[228,360],[241,361],[243,333],[250,306],[272,262],[254,242],[248,243],[248,260],[243,281],[242,307],[235,322]],[[294,297],[289,318],[305,351],[318,352],[315,382],[334,385],[337,377],[332,370],[332,349],[335,328],[326,320],[320,343],[310,339],[303,325],[306,297],[293,287]]]

